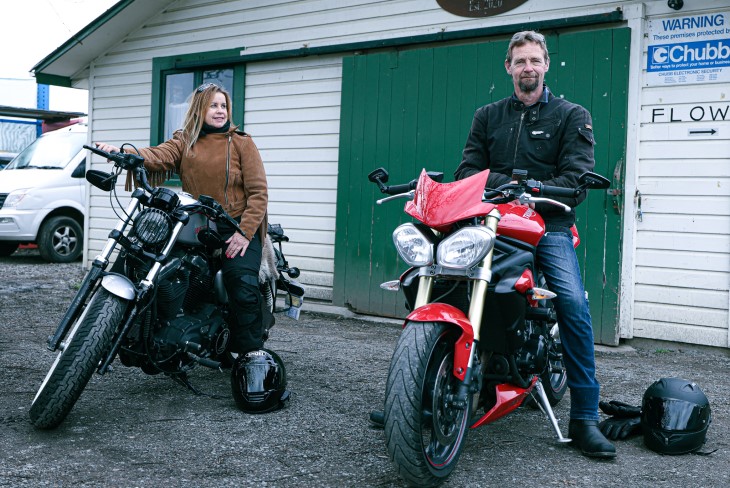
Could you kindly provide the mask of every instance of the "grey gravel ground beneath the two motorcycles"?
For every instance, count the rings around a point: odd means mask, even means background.
[[[299,321],[278,314],[267,343],[287,366],[284,410],[237,410],[227,372],[191,373],[194,386],[222,397],[212,398],[116,362],[59,428],[35,430],[28,408],[55,356],[46,338],[82,276],[79,263],[43,263],[34,251],[0,258],[0,486],[402,486],[383,432],[366,420],[382,404],[399,325],[307,311],[307,302]],[[590,460],[525,408],[470,431],[445,486],[730,486],[727,351],[632,343],[599,347],[596,359],[606,400],[638,404],[663,376],[696,381],[712,404],[712,454],[660,456],[635,437],[617,443],[616,460]],[[564,433],[568,405],[556,408]]]

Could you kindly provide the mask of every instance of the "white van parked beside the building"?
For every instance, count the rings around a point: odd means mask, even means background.
[[[87,125],[47,132],[0,170],[0,256],[35,243],[46,261],[81,256]]]

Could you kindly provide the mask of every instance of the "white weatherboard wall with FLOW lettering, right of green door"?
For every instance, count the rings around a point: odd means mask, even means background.
[[[703,4],[676,15],[730,12]],[[637,183],[627,194],[633,215],[625,217],[636,228],[632,335],[728,347],[730,83],[644,85]]]

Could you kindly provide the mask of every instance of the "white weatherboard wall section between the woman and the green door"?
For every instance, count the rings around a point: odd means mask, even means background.
[[[250,64],[244,126],[266,162],[269,221],[291,237],[307,297],[332,300],[342,58]]]

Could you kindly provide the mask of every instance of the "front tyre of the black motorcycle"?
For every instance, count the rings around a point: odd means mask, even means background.
[[[30,420],[35,427],[53,429],[63,422],[109,350],[126,307],[126,300],[104,288],[96,292],[33,400]]]

